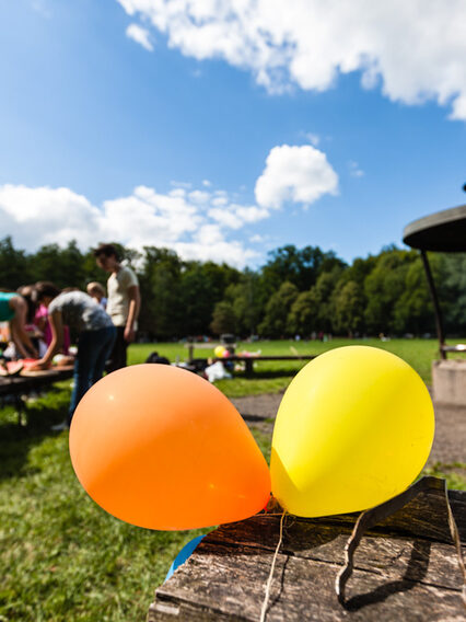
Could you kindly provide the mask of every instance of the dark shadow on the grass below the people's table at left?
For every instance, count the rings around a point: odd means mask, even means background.
[[[19,424],[14,404],[0,408],[0,481],[31,474],[27,457],[31,448],[45,438],[56,436],[50,426],[67,416],[70,392],[50,389],[46,394],[25,402],[22,423]]]

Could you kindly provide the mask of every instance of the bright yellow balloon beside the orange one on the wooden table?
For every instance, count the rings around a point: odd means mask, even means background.
[[[432,401],[407,362],[368,346],[329,350],[295,376],[281,401],[272,494],[303,517],[374,507],[417,477],[433,433]]]

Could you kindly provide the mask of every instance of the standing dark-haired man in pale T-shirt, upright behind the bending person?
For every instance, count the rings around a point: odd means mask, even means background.
[[[117,336],[107,370],[115,371],[126,367],[126,350],[136,337],[141,306],[139,283],[131,268],[120,265],[118,251],[113,244],[101,244],[94,256],[97,266],[110,273],[106,311],[116,326]]]

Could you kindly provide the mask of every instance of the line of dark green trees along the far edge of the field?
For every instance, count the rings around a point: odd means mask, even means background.
[[[281,338],[434,333],[434,315],[417,251],[384,247],[350,265],[333,251],[287,245],[258,269],[182,260],[174,251],[118,245],[141,287],[140,331],[149,339],[233,333]],[[447,334],[466,334],[466,255],[429,256]],[[35,253],[0,240],[0,287],[51,280],[85,289],[107,276],[74,241]]]

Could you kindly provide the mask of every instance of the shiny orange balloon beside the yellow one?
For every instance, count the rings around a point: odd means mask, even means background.
[[[75,410],[70,454],[88,494],[139,527],[195,529],[264,508],[270,473],[233,404],[168,365],[105,376]]]

